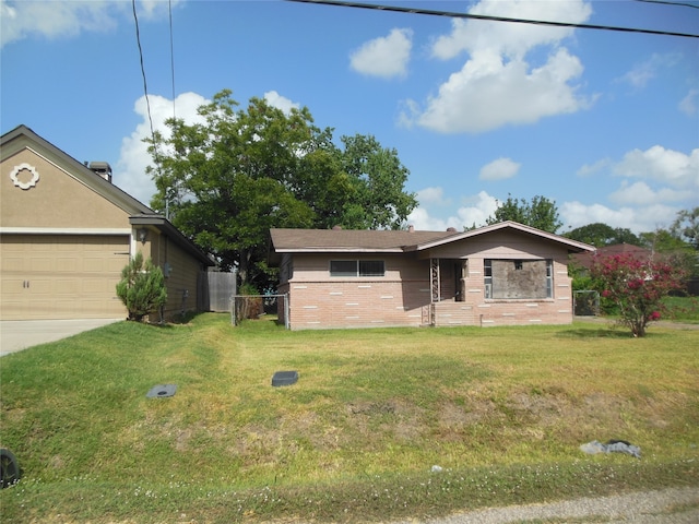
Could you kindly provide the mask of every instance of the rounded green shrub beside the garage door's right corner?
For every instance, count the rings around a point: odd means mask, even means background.
[[[140,251],[121,270],[117,296],[129,311],[129,320],[143,321],[143,317],[157,311],[167,301],[165,277],[151,259],[143,262]]]

